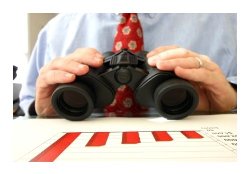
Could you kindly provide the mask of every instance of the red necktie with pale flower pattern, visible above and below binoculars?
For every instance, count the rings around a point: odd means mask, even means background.
[[[128,49],[133,53],[143,50],[143,31],[136,13],[124,13],[114,38],[113,52]],[[139,106],[127,85],[118,88],[111,105],[104,109],[106,116],[138,116],[147,109]]]

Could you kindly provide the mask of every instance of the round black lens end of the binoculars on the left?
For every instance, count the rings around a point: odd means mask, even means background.
[[[61,116],[78,121],[92,113],[93,98],[93,92],[86,85],[62,85],[52,94],[52,104]]]

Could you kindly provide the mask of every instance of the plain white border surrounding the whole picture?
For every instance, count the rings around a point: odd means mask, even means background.
[[[8,0],[1,1],[0,15],[0,160],[1,173],[246,173],[248,161],[248,4],[245,0]],[[21,13],[58,12],[155,12],[155,13],[237,13],[238,14],[238,162],[199,164],[31,164],[10,161],[12,121],[12,65],[18,53]],[[31,130],[32,131],[32,130]],[[157,166],[155,168],[155,165]],[[5,171],[2,171],[5,170]],[[157,171],[155,171],[157,170]],[[114,173],[114,172],[113,172]]]

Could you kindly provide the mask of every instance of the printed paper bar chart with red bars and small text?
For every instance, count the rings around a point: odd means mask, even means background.
[[[237,136],[200,130],[60,132],[17,161],[236,160]]]

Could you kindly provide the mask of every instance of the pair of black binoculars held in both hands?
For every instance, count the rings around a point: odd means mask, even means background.
[[[167,119],[182,119],[191,114],[199,102],[195,88],[173,71],[149,66],[146,54],[134,54],[127,49],[104,53],[100,68],[90,68],[74,82],[55,89],[51,101],[55,111],[68,120],[84,120],[94,109],[111,104],[116,90],[128,85],[137,103],[156,108]]]

